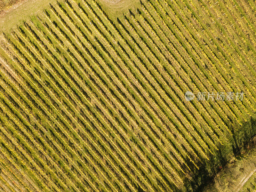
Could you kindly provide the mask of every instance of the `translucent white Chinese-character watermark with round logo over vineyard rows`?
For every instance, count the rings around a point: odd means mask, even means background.
[[[234,101],[234,100],[243,100],[244,97],[244,92],[217,92],[217,93],[210,93],[210,92],[198,92],[196,94],[187,91],[185,93],[185,99],[187,101],[191,100],[198,100],[198,101],[203,101],[203,100],[221,100],[221,101]]]

